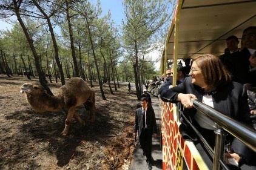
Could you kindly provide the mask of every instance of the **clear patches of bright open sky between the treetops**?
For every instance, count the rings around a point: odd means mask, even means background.
[[[93,0],[96,4],[96,0]],[[106,15],[107,12],[110,10],[111,18],[116,23],[116,25],[121,25],[122,19],[124,19],[124,8],[122,5],[123,0],[100,0],[101,8],[102,8],[102,15]],[[0,19],[0,30],[10,30],[12,25],[4,22]],[[152,53],[148,54],[147,56],[152,57],[155,60],[157,57],[160,56],[158,51],[153,51]],[[155,70],[160,69],[160,61],[155,62]]]

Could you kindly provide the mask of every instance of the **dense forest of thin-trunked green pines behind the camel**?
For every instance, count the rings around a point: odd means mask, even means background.
[[[49,94],[50,81],[82,77],[103,83],[135,82],[140,97],[145,79],[159,75],[149,53],[163,50],[172,15],[170,0],[124,0],[121,25],[103,16],[99,1],[2,0],[0,74],[37,76]],[[161,53],[160,53],[161,54]],[[159,57],[160,58],[160,57]]]

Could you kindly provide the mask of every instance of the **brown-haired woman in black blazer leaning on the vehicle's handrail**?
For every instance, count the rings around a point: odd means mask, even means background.
[[[247,102],[246,88],[237,82],[232,82],[229,73],[223,69],[223,64],[218,57],[212,54],[203,54],[195,57],[190,70],[190,76],[177,87],[170,88],[161,93],[164,102],[181,102],[184,106],[184,115],[198,128],[206,141],[214,146],[214,126],[203,126],[196,118],[198,111],[193,108],[193,99],[197,99],[211,106],[235,120],[251,125],[250,111]],[[214,71],[213,71],[214,70]],[[232,142],[233,137],[228,135],[226,139]],[[230,163],[227,158],[234,158],[239,165],[254,162],[255,152],[249,149],[240,140],[232,142],[233,153],[226,154],[224,161]]]

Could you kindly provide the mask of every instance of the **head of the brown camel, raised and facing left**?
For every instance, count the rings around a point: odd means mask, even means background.
[[[46,90],[41,85],[33,85],[32,83],[24,83],[21,88],[21,93],[25,91],[26,94],[33,94],[39,96],[42,93],[46,93]]]

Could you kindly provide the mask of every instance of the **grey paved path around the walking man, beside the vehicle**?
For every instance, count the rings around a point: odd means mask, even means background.
[[[159,110],[159,99],[155,96],[151,96],[152,100],[152,106],[153,109],[155,110],[155,117],[157,119],[157,126],[158,126],[158,137],[157,139],[152,138],[152,169],[162,169],[162,149],[160,148],[160,110]],[[146,157],[143,156],[142,149],[136,145],[135,150],[133,152],[133,160],[130,165],[129,170],[144,170],[148,169],[147,168],[147,163],[146,163]]]

